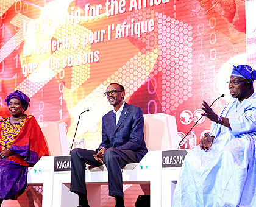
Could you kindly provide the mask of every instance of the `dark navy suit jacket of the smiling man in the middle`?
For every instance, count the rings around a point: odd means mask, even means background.
[[[102,118],[102,143],[100,147],[116,147],[132,150],[144,156],[148,149],[144,141],[144,118],[140,107],[124,103],[121,116],[116,125],[116,117],[109,111]]]

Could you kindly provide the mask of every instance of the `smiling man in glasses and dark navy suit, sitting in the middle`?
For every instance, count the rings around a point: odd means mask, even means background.
[[[71,152],[70,191],[79,195],[81,207],[89,206],[84,163],[107,166],[109,195],[115,197],[116,207],[123,207],[121,166],[139,162],[148,152],[141,108],[124,102],[124,87],[118,83],[111,83],[105,95],[114,110],[102,118],[102,143],[96,151],[77,148]]]

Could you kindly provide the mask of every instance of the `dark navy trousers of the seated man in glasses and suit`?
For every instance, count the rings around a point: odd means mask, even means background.
[[[92,150],[76,148],[71,152],[71,188],[76,194],[87,194],[85,185],[85,163],[92,166],[101,166],[102,163],[93,157],[96,152]],[[137,157],[138,156],[138,157]],[[119,150],[108,148],[105,150],[103,161],[108,170],[109,195],[113,197],[124,197],[123,178],[121,166],[127,163],[136,163],[142,156],[132,150]]]

